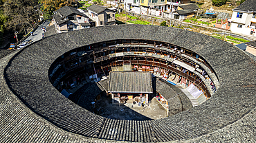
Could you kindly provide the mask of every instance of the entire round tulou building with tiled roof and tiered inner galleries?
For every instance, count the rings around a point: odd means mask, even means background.
[[[159,26],[48,36],[0,59],[0,142],[256,142],[255,60]],[[143,113],[153,102],[161,118]]]

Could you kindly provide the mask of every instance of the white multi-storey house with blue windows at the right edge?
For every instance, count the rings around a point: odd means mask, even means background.
[[[239,34],[256,36],[256,0],[247,0],[232,10],[230,30]]]

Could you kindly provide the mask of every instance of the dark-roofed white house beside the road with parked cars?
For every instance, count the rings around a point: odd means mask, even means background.
[[[54,12],[52,16],[57,32],[68,32],[90,28],[89,17],[75,8],[64,6]]]

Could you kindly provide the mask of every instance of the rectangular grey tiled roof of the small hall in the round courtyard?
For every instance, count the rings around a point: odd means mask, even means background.
[[[109,92],[153,94],[150,72],[111,72]]]

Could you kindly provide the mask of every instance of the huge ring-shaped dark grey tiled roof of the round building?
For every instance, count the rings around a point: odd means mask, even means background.
[[[68,100],[48,69],[77,47],[115,39],[148,39],[196,52],[219,78],[198,107],[161,120],[113,120]],[[237,47],[176,28],[116,25],[48,36],[0,60],[0,142],[256,142],[256,63]],[[6,68],[7,67],[7,68]]]

